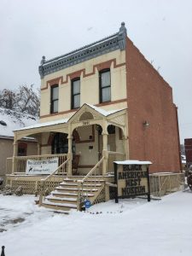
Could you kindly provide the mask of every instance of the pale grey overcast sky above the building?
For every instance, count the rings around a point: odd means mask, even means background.
[[[181,143],[192,137],[191,0],[1,0],[0,90],[39,87],[38,65],[119,31],[172,86]]]

